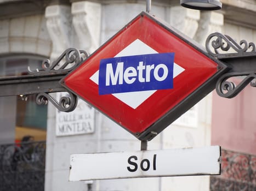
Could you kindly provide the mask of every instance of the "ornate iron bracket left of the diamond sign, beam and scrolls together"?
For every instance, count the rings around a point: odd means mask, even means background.
[[[0,86],[2,85],[4,89],[0,92],[0,96],[19,95],[26,100],[27,95],[37,94],[37,104],[51,102],[60,111],[73,111],[77,105],[77,96],[62,87],[59,81],[87,57],[85,51],[70,48],[52,63],[49,59],[45,59],[41,71],[38,69],[31,71],[28,68],[28,75],[0,77]],[[50,94],[54,92],[67,92],[69,96],[60,98],[58,102]]]

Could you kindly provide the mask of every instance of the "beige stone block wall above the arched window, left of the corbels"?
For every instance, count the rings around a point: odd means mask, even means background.
[[[52,41],[44,15],[0,20],[0,53],[23,53],[49,57]]]

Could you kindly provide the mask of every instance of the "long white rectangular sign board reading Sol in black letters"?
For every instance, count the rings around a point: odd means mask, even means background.
[[[219,175],[220,146],[72,154],[69,181]]]

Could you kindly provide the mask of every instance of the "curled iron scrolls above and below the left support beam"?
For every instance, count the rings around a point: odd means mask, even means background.
[[[56,61],[52,62],[52,64],[50,63],[49,59],[44,59],[42,63],[42,71],[39,71],[38,69],[36,71],[31,71],[30,68],[28,68],[28,70],[30,74],[38,76],[48,75],[52,73],[66,73],[76,68],[77,65],[84,61],[84,59],[86,59],[87,57],[88,54],[85,51],[70,48],[64,51],[61,56],[56,59]],[[69,96],[61,97],[58,102],[54,97],[49,94],[52,92],[67,92]],[[46,105],[48,101],[51,102],[60,111],[70,112],[76,108],[77,96],[69,91],[66,91],[65,88],[55,90],[53,89],[49,92],[41,92],[37,94],[36,103],[38,105]]]

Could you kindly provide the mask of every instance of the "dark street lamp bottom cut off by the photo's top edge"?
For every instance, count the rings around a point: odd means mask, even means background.
[[[197,10],[218,10],[222,3],[219,0],[180,0],[183,7]]]

